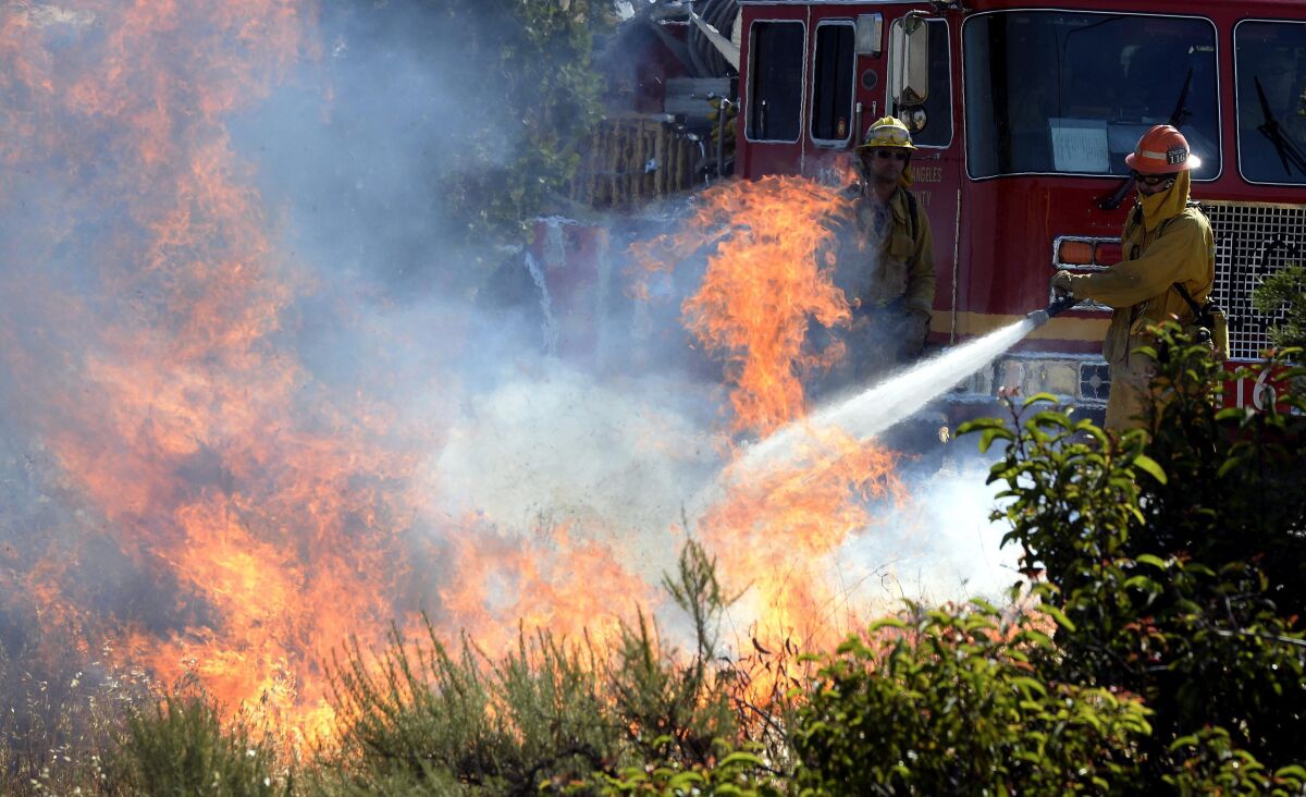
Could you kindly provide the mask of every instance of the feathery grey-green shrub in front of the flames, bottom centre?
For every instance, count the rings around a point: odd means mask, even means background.
[[[734,740],[737,724],[713,665],[727,604],[714,563],[691,542],[665,585],[693,622],[690,655],[663,648],[643,614],[610,656],[547,631],[522,635],[499,661],[470,639],[454,656],[430,623],[421,644],[392,632],[376,661],[355,644],[332,670],[341,750],[323,766],[340,775],[319,777],[319,790],[598,793],[682,775],[737,781],[752,759],[722,755],[718,741]]]

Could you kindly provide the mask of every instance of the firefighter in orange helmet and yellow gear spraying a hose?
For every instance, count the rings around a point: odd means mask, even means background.
[[[1102,357],[1111,367],[1106,427],[1117,431],[1141,425],[1156,365],[1135,353],[1151,342],[1145,329],[1171,317],[1191,325],[1216,278],[1211,225],[1190,203],[1188,172],[1202,162],[1183,135],[1158,124],[1124,162],[1139,193],[1121,235],[1124,259],[1102,272],[1057,272],[1051,281],[1058,293],[1114,310]]]

